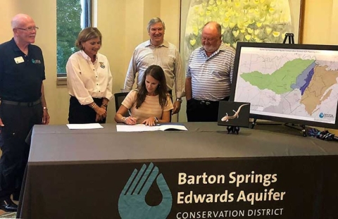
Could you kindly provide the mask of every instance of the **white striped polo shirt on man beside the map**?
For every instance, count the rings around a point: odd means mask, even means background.
[[[192,78],[192,98],[220,101],[230,96],[234,54],[234,49],[223,43],[209,57],[203,47],[192,52],[186,75]]]

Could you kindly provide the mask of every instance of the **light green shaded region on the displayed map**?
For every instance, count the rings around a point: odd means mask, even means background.
[[[293,90],[291,85],[296,83],[297,76],[314,62],[314,59],[303,60],[296,58],[284,63],[281,68],[275,70],[271,75],[263,74],[256,70],[251,73],[242,73],[241,77],[259,89],[270,89],[276,94],[284,94]]]

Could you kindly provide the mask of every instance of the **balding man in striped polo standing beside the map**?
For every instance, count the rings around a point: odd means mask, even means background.
[[[219,101],[229,99],[235,51],[223,44],[221,32],[218,23],[206,23],[202,46],[190,56],[185,80],[188,122],[217,121]]]

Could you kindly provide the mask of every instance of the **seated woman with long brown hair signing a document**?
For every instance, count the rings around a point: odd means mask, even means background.
[[[167,92],[163,69],[158,65],[150,65],[142,79],[139,90],[132,90],[127,94],[115,115],[117,123],[135,125],[156,125],[169,123],[170,110],[173,103]],[[124,117],[129,109],[130,116]]]

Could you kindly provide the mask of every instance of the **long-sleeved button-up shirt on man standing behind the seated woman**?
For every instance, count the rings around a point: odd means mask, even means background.
[[[141,87],[144,72],[150,65],[160,65],[163,68],[168,91],[173,90],[175,82],[176,97],[184,96],[184,73],[180,53],[174,44],[166,41],[155,47],[147,40],[136,47],[125,76],[124,89],[132,89],[136,73],[139,73],[137,87]]]

